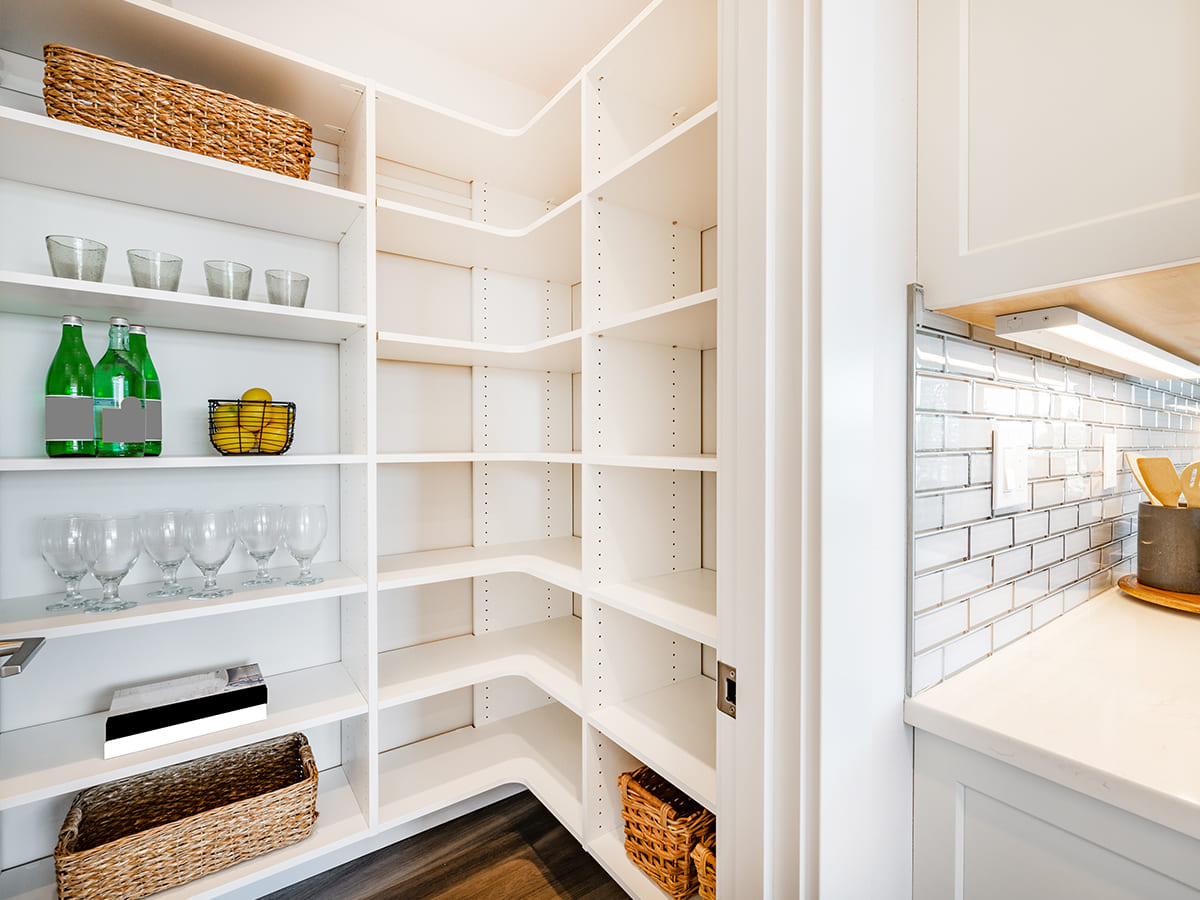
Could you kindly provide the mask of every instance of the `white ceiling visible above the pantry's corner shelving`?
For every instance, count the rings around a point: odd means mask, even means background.
[[[451,59],[550,97],[648,0],[337,0]]]

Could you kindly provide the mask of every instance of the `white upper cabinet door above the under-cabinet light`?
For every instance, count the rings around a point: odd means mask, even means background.
[[[1196,47],[1195,0],[920,0],[926,306],[1196,262]]]

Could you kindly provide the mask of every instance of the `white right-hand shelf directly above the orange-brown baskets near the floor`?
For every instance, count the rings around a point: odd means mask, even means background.
[[[716,812],[716,684],[692,676],[601,707],[588,719],[662,778]]]

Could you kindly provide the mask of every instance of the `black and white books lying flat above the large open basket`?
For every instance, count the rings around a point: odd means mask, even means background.
[[[257,664],[122,688],[104,722],[104,758],[265,718],[266,682]]]

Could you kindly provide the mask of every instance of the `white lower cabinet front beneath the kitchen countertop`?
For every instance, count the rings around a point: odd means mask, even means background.
[[[916,736],[913,896],[1200,896],[1200,842],[925,731]]]

